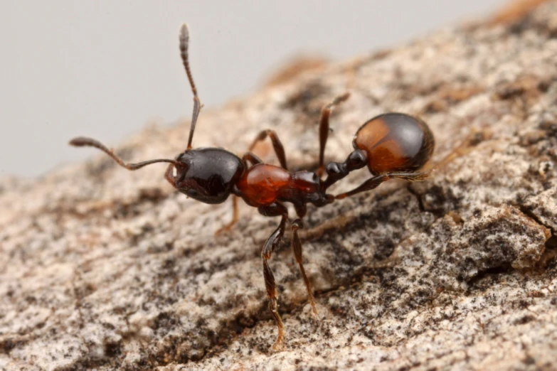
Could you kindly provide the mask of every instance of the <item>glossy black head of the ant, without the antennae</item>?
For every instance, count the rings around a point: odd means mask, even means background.
[[[240,158],[220,148],[188,149],[169,166],[166,179],[202,203],[223,203],[242,175]]]

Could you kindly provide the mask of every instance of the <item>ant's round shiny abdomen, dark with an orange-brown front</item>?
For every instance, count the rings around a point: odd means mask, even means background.
[[[380,114],[363,124],[354,149],[364,151],[373,174],[413,172],[428,162],[435,139],[422,120],[401,113]]]

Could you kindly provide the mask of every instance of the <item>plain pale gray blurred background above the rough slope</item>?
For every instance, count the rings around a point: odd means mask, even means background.
[[[178,30],[206,107],[255,90],[297,53],[334,60],[487,16],[508,0],[0,2],[0,176],[38,176],[191,114]],[[139,159],[135,159],[139,160]]]

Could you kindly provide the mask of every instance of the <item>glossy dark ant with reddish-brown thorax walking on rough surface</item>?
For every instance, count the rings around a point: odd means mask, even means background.
[[[78,137],[72,139],[72,146],[92,146],[104,151],[120,166],[128,170],[137,170],[152,163],[170,163],[164,177],[179,192],[185,193],[202,203],[223,203],[229,195],[243,198],[245,203],[258,208],[259,213],[268,217],[280,216],[280,223],[263,245],[261,252],[265,288],[269,299],[269,309],[275,318],[278,333],[274,349],[277,349],[285,337],[284,325],[277,305],[277,286],[275,276],[269,267],[269,259],[279,246],[285,234],[288,210],[285,203],[294,205],[297,219],[291,224],[292,249],[299,270],[304,279],[309,303],[317,315],[312,284],[307,278],[302,263],[302,244],[298,230],[303,228],[302,218],[306,215],[307,204],[320,208],[335,200],[356,195],[376,188],[392,178],[407,181],[422,181],[428,171],[420,171],[433,153],[435,140],[428,125],[422,120],[408,114],[386,113],[373,117],[356,131],[354,151],[344,162],[330,162],[324,166],[324,152],[329,136],[329,116],[331,109],[344,102],[346,93],[332,100],[323,107],[319,120],[319,168],[314,171],[288,171],[285,149],[273,130],[263,130],[253,141],[248,153],[241,158],[222,148],[192,148],[193,133],[201,111],[201,101],[197,95],[188,60],[189,31],[186,24],[179,33],[181,60],[186,70],[191,91],[193,92],[193,114],[186,150],[174,160],[158,158],[154,160],[126,163],[95,139]],[[280,166],[263,163],[251,151],[255,144],[269,137]],[[327,188],[345,178],[352,171],[368,167],[371,178],[361,185],[338,195],[327,193]],[[324,172],[327,177],[323,178]],[[233,197],[233,220],[221,230],[228,230],[238,221],[238,201]]]

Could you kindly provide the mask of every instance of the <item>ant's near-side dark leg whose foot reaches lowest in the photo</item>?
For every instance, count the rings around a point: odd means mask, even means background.
[[[269,298],[269,310],[271,311],[273,318],[275,318],[278,328],[277,340],[275,340],[275,344],[272,345],[272,348],[277,350],[282,344],[282,340],[285,338],[285,326],[282,323],[282,318],[280,318],[280,314],[278,312],[277,285],[275,284],[275,276],[272,274],[268,260],[271,259],[272,252],[275,251],[282,236],[285,234],[288,210],[285,205],[282,205],[282,203],[272,203],[271,205],[260,206],[258,210],[260,214],[265,216],[282,216],[280,225],[267,239],[261,252],[261,258],[263,259],[263,277],[265,278],[265,288],[267,289],[267,297]]]

